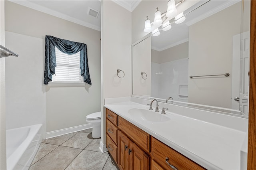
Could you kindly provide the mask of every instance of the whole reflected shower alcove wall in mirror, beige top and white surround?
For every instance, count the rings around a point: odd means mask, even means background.
[[[188,42],[151,55],[151,96],[188,102]]]

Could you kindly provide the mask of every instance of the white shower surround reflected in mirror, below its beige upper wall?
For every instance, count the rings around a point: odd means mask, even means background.
[[[188,58],[151,63],[151,96],[188,102]]]

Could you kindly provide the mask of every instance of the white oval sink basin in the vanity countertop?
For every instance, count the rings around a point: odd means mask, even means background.
[[[146,108],[134,108],[128,111],[129,115],[150,122],[166,122],[170,118],[166,115],[162,115],[161,112],[150,111]]]

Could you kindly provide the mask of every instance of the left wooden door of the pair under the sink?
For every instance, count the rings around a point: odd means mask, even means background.
[[[129,169],[129,138],[118,130],[118,166],[121,170]]]

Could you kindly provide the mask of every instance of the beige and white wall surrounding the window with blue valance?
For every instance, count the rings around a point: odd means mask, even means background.
[[[6,127],[42,123],[52,132],[87,125],[86,115],[100,111],[100,32],[10,1],[5,30],[6,45],[19,54],[6,62]],[[43,85],[46,35],[87,44],[92,85]]]

